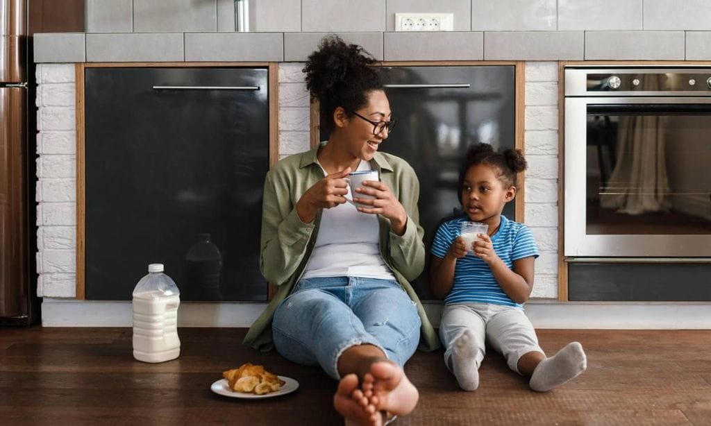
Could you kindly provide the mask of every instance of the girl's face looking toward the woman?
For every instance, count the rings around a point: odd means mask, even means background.
[[[471,221],[497,226],[503,206],[516,195],[516,188],[505,187],[496,177],[496,171],[484,164],[473,165],[466,170],[461,206]]]

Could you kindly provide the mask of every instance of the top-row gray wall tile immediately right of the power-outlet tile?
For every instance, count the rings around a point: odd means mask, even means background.
[[[471,0],[471,31],[556,29],[556,0]]]

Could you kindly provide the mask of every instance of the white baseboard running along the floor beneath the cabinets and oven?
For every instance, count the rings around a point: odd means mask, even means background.
[[[179,327],[249,327],[266,303],[182,302]],[[425,302],[439,326],[438,302]],[[556,302],[532,300],[526,315],[537,329],[711,329],[711,302]],[[131,327],[131,302],[45,297],[44,327]]]

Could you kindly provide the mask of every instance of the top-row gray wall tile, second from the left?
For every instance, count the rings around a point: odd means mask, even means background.
[[[217,31],[216,0],[134,0],[137,33]]]

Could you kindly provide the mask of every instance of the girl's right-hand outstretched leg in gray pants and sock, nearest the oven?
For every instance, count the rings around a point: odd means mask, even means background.
[[[523,310],[515,307],[496,307],[498,312],[489,321],[486,335],[491,346],[506,357],[509,368],[523,376],[530,376],[529,386],[545,392],[577,377],[587,368],[582,346],[572,342],[546,358],[535,335],[533,324]]]

